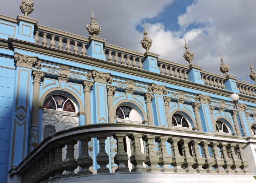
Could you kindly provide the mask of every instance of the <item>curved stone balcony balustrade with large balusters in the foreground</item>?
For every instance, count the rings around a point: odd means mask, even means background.
[[[206,135],[207,134],[207,135]],[[43,140],[25,159],[9,171],[19,175],[22,183],[55,181],[93,174],[88,142],[97,138],[99,149],[97,174],[109,173],[108,137],[116,140],[115,172],[173,172],[245,174],[249,166],[243,155],[247,143],[244,137],[208,134],[191,130],[127,123],[100,123],[79,126],[54,133]],[[127,154],[127,137],[131,154]],[[74,156],[74,145],[80,141],[80,155]],[[144,144],[142,144],[142,142]],[[62,148],[66,145],[66,157]],[[145,151],[142,152],[142,149]],[[96,154],[95,149],[93,149]],[[127,167],[128,160],[133,164]],[[143,165],[143,163],[146,164]],[[77,173],[74,170],[80,167]],[[93,176],[93,175],[92,175]],[[85,177],[86,178],[86,177]]]

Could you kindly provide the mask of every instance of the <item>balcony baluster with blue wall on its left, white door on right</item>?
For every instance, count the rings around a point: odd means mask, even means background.
[[[126,134],[115,134],[114,138],[117,141],[117,153],[114,157],[114,162],[118,165],[118,168],[115,170],[115,172],[129,172],[129,168],[126,167],[128,164],[128,154],[126,151],[124,151],[124,138],[126,137]]]

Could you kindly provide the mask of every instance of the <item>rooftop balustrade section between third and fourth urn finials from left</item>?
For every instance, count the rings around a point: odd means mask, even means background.
[[[188,70],[186,69],[167,65],[164,63],[158,63],[158,66],[161,74],[188,80]]]

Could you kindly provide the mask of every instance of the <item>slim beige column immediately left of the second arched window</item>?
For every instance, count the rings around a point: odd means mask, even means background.
[[[113,96],[115,94],[116,87],[107,85],[107,98],[108,98],[108,122],[115,122],[115,111],[114,111],[114,103]]]

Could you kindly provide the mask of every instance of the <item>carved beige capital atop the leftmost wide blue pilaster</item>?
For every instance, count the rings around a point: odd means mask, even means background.
[[[17,66],[27,68],[32,68],[34,66],[36,69],[41,69],[42,63],[38,61],[37,58],[37,56],[28,56],[14,52],[14,60],[16,61]]]

